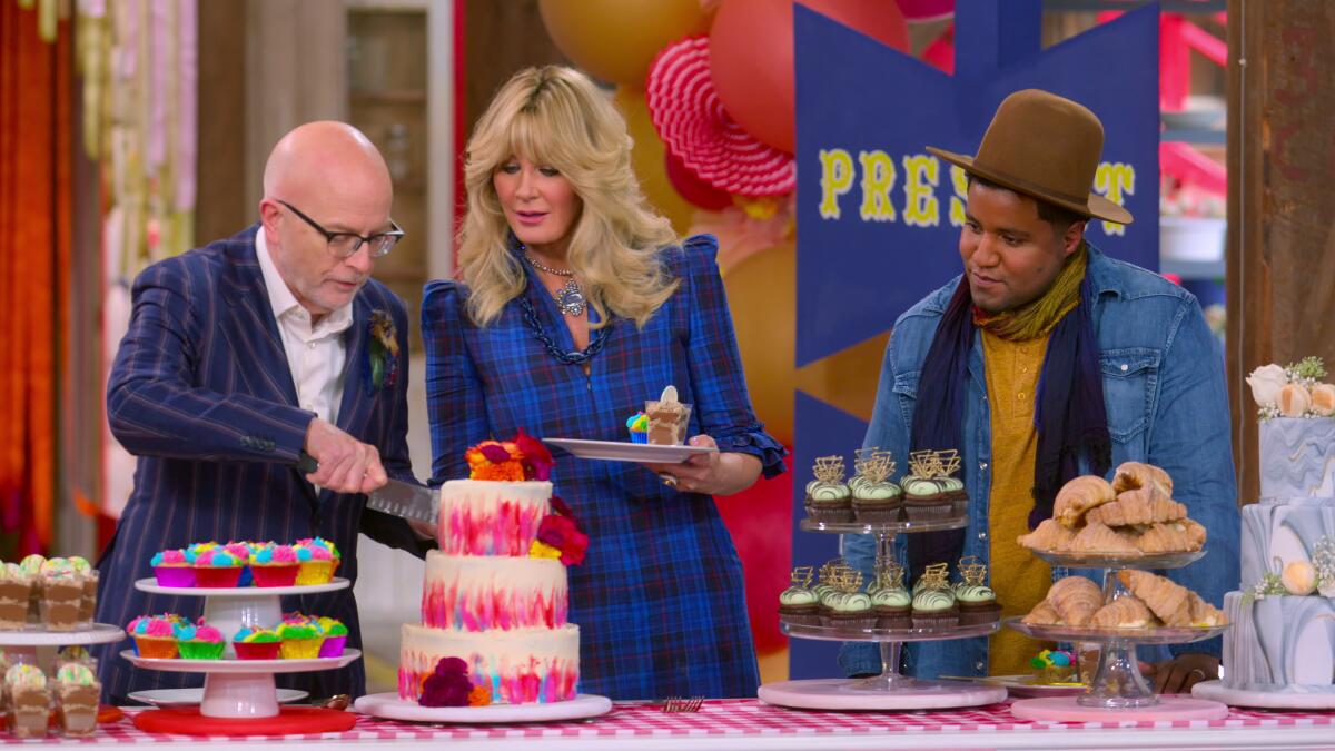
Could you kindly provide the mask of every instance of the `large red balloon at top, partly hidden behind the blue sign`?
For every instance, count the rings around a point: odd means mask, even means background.
[[[802,5],[901,52],[908,24],[889,0],[801,0]],[[793,154],[793,4],[724,0],[709,29],[709,72],[724,108],[760,140]]]

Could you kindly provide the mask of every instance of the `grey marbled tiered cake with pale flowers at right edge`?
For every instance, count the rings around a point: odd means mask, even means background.
[[[1262,497],[1242,510],[1242,591],[1224,596],[1224,686],[1335,692],[1335,401],[1292,376],[1283,394],[1252,384]]]

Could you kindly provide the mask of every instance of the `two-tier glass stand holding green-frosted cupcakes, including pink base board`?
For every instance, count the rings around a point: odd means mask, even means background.
[[[933,521],[898,521],[888,524],[824,522],[804,518],[805,532],[832,535],[874,535],[877,563],[894,559],[897,535],[941,532],[968,525],[964,505],[952,508],[947,518]],[[987,636],[999,628],[997,621],[949,629],[841,628],[826,625],[782,624],[784,632],[797,639],[826,641],[874,641],[881,645],[881,675],[868,679],[786,680],[760,687],[757,695],[766,704],[800,710],[934,710],[977,707],[1005,699],[1005,688],[953,680],[920,680],[900,673],[900,651],[905,641],[943,641]]]

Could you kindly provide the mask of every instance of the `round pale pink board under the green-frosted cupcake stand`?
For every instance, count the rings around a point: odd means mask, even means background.
[[[868,691],[861,680],[822,678],[766,683],[756,692],[761,702],[794,710],[945,710],[979,707],[1005,700],[1005,688],[952,680],[914,680],[905,688]]]

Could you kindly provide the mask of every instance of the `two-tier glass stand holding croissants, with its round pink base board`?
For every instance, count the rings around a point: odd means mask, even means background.
[[[1121,592],[1117,584],[1120,569],[1181,568],[1204,556],[1204,551],[1167,553],[1140,557],[1065,556],[1035,551],[1035,555],[1053,567],[1103,568],[1104,601]],[[1155,627],[1155,628],[1099,628],[1075,625],[1039,625],[1007,619],[1005,625],[1033,639],[1048,641],[1097,643],[1101,645],[1099,667],[1089,688],[1076,696],[1048,696],[1021,699],[1012,704],[1015,716],[1025,720],[1055,722],[1136,722],[1136,720],[1212,720],[1228,715],[1228,707],[1219,702],[1179,695],[1156,695],[1136,659],[1136,644],[1189,644],[1219,636],[1227,625],[1218,627]]]

